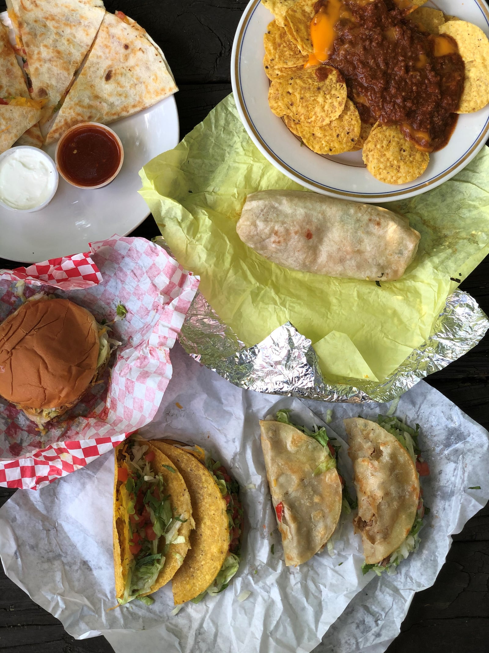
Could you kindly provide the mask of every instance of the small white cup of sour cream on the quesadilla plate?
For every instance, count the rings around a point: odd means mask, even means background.
[[[32,213],[47,206],[58,187],[53,159],[38,148],[20,145],[0,154],[0,206]]]

